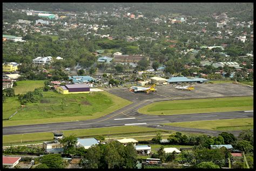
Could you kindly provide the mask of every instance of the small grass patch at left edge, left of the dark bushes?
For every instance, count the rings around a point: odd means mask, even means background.
[[[11,105],[10,105],[11,104]],[[3,119],[8,119],[21,106],[18,97],[6,97],[3,103]]]

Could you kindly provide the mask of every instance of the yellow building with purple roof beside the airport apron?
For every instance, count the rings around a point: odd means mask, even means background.
[[[79,94],[79,93],[89,93],[90,87],[87,84],[67,84],[65,86],[59,86],[56,88],[61,94]]]

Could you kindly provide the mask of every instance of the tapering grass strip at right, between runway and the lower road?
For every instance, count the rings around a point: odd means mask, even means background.
[[[194,122],[168,123],[164,125],[192,127],[195,129],[203,130],[231,131],[253,129],[253,118],[205,120]]]

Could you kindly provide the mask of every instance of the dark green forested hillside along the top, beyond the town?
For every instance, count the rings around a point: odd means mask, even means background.
[[[16,4],[16,5],[15,5]],[[193,17],[227,12],[239,20],[253,19],[253,3],[3,3],[3,9],[32,9],[45,11],[113,11],[113,8],[130,7],[128,12],[142,12],[145,16],[181,13]]]

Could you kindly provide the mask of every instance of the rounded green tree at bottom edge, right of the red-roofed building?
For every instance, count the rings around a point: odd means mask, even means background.
[[[62,156],[60,154],[47,154],[42,156],[41,163],[49,168],[64,168]]]

